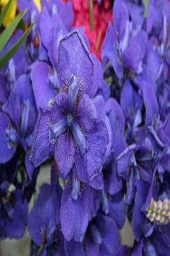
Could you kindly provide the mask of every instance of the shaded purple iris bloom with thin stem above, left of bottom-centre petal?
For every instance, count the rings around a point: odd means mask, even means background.
[[[29,234],[38,246],[43,246],[45,252],[58,250],[59,244],[63,243],[59,215],[62,189],[56,181],[56,170],[52,166],[51,184],[42,185],[28,217]]]

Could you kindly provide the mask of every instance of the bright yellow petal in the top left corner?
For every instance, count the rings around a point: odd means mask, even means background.
[[[1,4],[1,9],[4,10],[6,4],[8,3],[8,0],[1,0],[0,4]],[[14,19],[15,15],[17,12],[17,0],[12,0],[12,3],[10,5],[10,8],[8,10],[8,12],[6,13],[6,16],[4,17],[3,20],[3,25],[5,27],[8,27],[12,20]]]

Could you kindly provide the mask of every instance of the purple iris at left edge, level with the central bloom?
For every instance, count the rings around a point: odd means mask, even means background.
[[[26,152],[26,167],[31,177],[33,166],[27,160],[36,122],[36,107],[29,76],[23,74],[15,81],[3,110],[8,115],[1,113],[0,163],[9,161],[15,153],[17,145],[20,145]]]

